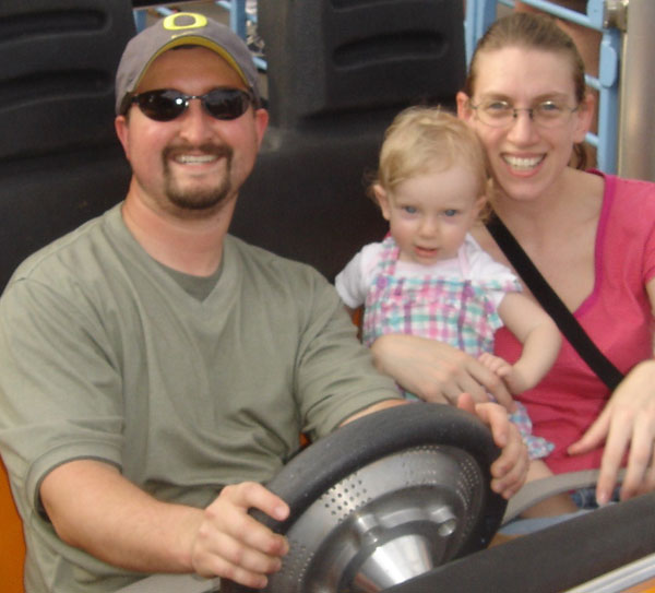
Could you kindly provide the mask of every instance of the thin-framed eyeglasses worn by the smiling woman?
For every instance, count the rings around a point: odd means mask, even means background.
[[[516,121],[519,111],[527,112],[529,119],[540,128],[557,128],[563,126],[579,106],[569,107],[557,100],[543,100],[534,107],[514,107],[507,100],[489,99],[478,105],[468,103],[475,109],[477,118],[492,128],[509,128]]]

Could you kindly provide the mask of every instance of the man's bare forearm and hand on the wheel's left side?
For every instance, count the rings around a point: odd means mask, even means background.
[[[278,521],[288,506],[264,486],[226,486],[206,508],[164,502],[114,465],[75,460],[52,470],[40,496],[59,537],[110,565],[139,572],[198,572],[251,588],[266,585],[288,545],[248,514]]]

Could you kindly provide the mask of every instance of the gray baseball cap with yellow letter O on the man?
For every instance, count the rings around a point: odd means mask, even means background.
[[[116,114],[128,110],[130,96],[158,56],[187,45],[206,47],[218,54],[239,74],[255,102],[261,103],[257,68],[241,38],[204,14],[177,12],[144,28],[126,46],[116,73]]]

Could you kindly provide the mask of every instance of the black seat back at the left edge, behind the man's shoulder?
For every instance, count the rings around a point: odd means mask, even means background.
[[[133,34],[129,0],[0,2],[0,289],[124,195],[114,78]]]

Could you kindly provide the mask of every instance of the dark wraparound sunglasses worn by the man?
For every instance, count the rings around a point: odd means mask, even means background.
[[[252,95],[240,88],[214,88],[204,95],[158,88],[134,95],[130,103],[139,105],[141,111],[155,121],[171,121],[181,116],[194,98],[200,99],[204,110],[216,119],[237,119],[254,104]]]

